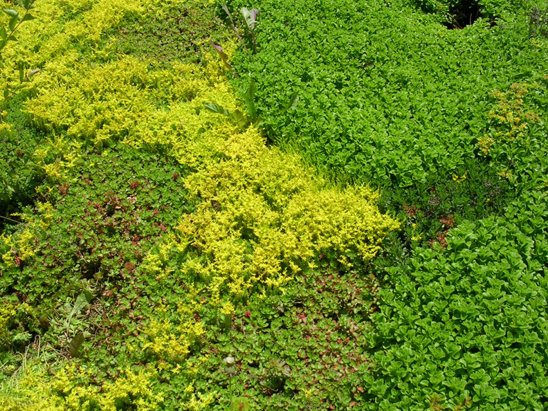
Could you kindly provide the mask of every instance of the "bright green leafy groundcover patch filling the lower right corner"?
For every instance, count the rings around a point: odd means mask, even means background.
[[[369,409],[546,410],[547,234],[547,194],[527,194],[389,270]]]

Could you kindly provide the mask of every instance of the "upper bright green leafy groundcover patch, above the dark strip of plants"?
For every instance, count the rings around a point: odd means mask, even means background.
[[[257,82],[271,139],[300,147],[322,169],[381,186],[450,177],[474,157],[488,93],[547,69],[524,8],[493,27],[480,19],[448,30],[399,1],[254,6],[259,53],[235,59],[248,73],[237,83]],[[300,101],[286,110],[292,93]]]

